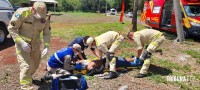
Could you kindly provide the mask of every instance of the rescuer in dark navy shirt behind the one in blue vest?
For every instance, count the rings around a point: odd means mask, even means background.
[[[79,58],[80,60],[81,60],[81,59],[87,59],[86,56],[85,56],[84,50],[87,49],[87,48],[89,47],[89,45],[91,44],[91,43],[90,43],[91,40],[93,41],[94,38],[92,38],[92,37],[90,37],[90,36],[78,37],[78,38],[74,39],[74,40],[69,44],[69,46],[73,46],[74,44],[79,44],[79,45],[81,46],[81,49],[82,49],[83,52],[81,53],[82,57]],[[92,52],[95,54],[95,56],[97,56],[97,55],[96,55],[96,52],[95,52],[95,49],[94,49],[93,47],[89,47],[89,48],[92,50]]]

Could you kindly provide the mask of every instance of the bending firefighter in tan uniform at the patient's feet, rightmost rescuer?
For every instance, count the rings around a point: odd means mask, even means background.
[[[151,55],[165,41],[165,37],[163,33],[154,29],[129,32],[127,37],[137,46],[137,58],[144,61],[140,72],[135,77],[145,77],[150,66]],[[143,51],[145,44],[147,48]]]

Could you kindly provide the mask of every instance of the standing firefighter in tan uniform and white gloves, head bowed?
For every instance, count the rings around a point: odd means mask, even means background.
[[[50,19],[43,2],[33,7],[20,8],[12,16],[8,31],[15,41],[17,60],[20,64],[21,89],[32,89],[32,75],[40,64],[41,56],[48,51],[51,33]],[[43,32],[44,49],[40,51],[40,33]]]

